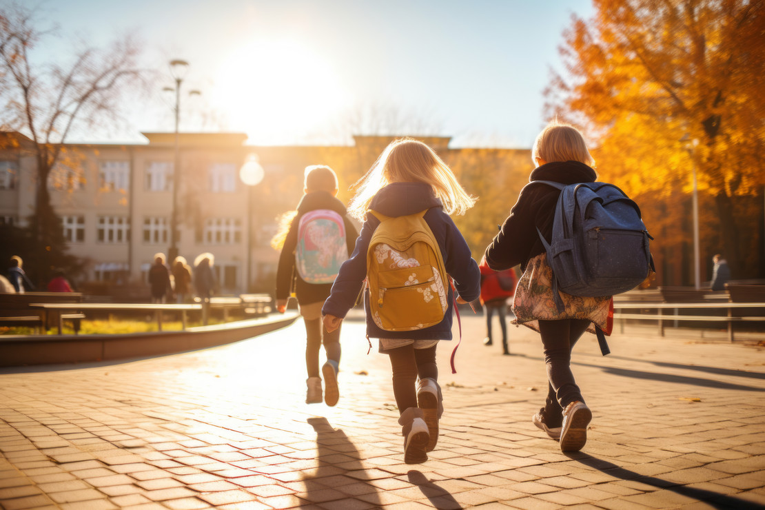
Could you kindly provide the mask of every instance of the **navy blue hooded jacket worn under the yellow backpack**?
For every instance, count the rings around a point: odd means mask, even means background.
[[[441,255],[444,258],[446,272],[454,278],[457,293],[466,301],[476,300],[480,295],[480,271],[474,261],[470,248],[454,222],[444,213],[441,200],[435,197],[430,184],[393,183],[379,190],[369,205],[386,216],[406,216],[428,209],[425,222],[433,231]],[[371,214],[364,222],[353,255],[340,267],[340,274],[332,285],[330,297],[324,302],[321,313],[335,317],[345,317],[348,310],[356,304],[366,278],[366,251],[372,239],[379,219]],[[370,338],[438,339],[451,340],[451,316],[454,307],[453,292],[449,289],[449,309],[444,320],[435,326],[414,331],[381,330],[369,314],[369,290],[364,292],[366,310],[366,334]]]

